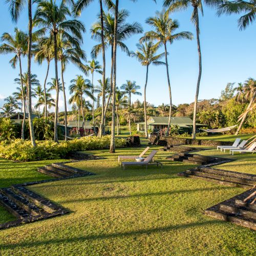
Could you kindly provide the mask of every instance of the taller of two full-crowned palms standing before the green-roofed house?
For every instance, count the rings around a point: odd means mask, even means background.
[[[168,82],[168,90],[169,90],[169,100],[170,106],[172,105],[172,90],[170,88],[170,78],[169,78],[169,67],[168,67],[168,58],[167,58],[167,43],[173,44],[176,40],[181,39],[193,39],[193,34],[188,31],[183,31],[179,33],[175,33],[175,31],[179,28],[178,20],[172,19],[169,17],[169,11],[165,11],[163,9],[161,12],[157,11],[156,16],[148,17],[146,19],[146,23],[151,25],[154,28],[154,31],[148,31],[145,35],[140,39],[140,41],[145,40],[157,40],[164,46],[165,53],[165,65],[166,65],[166,74],[167,74],[167,82]],[[169,134],[170,129],[170,118],[172,117],[172,108],[169,108],[169,119],[168,126],[166,130],[166,136]]]

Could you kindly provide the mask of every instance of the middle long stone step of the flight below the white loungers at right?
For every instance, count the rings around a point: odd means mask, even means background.
[[[190,170],[186,170],[185,172],[187,174],[194,174],[194,175],[199,175],[199,176],[207,177],[207,178],[220,179],[223,181],[238,182],[238,183],[247,184],[247,185],[251,185],[251,186],[254,184],[254,181],[252,181],[252,180],[230,177],[230,176],[223,176],[223,175],[212,174],[212,173],[205,173],[205,172],[201,172],[201,170],[197,170],[197,169],[190,169]]]

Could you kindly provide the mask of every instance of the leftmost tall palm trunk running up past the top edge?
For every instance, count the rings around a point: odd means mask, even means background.
[[[31,45],[32,45],[32,3],[28,0],[29,12],[29,40],[28,40],[28,113],[29,113],[29,131],[32,146],[36,146],[35,134],[32,120],[32,102],[31,102]],[[22,79],[22,77],[21,77]]]

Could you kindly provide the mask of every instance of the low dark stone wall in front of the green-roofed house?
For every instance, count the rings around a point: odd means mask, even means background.
[[[232,145],[230,141],[218,141],[218,140],[202,140],[202,139],[186,139],[182,137],[160,137],[158,135],[151,135],[151,145],[160,146],[172,146],[172,145],[203,145],[203,146],[220,146],[220,145]]]

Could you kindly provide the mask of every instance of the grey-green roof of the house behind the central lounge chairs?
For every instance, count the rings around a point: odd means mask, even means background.
[[[169,117],[163,116],[152,116],[147,119],[148,125],[167,125]],[[144,122],[139,122],[139,124],[144,124]],[[170,119],[170,124],[178,124],[180,127],[189,127],[188,125],[193,125],[193,120],[189,117],[172,117]],[[196,123],[196,125],[205,125],[201,123]]]

